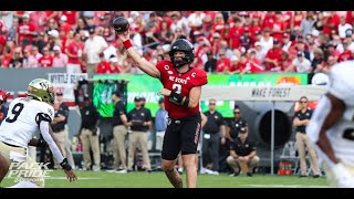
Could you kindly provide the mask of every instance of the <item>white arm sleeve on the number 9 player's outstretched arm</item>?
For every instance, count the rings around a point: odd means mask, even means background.
[[[49,148],[51,149],[54,158],[56,159],[58,163],[62,163],[64,157],[49,133],[49,128],[50,128],[49,122],[43,119],[39,122],[39,125],[40,125],[40,130],[43,136],[43,139],[48,143]]]

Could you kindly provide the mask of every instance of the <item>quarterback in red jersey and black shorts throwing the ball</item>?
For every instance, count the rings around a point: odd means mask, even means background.
[[[158,95],[165,96],[169,121],[164,137],[162,168],[175,188],[183,187],[183,180],[175,169],[175,160],[181,153],[187,175],[187,187],[197,187],[196,153],[200,133],[199,100],[201,86],[208,83],[205,71],[191,67],[195,59],[192,44],[176,40],[169,51],[170,61],[163,60],[155,65],[142,59],[132,48],[129,31],[117,32],[129,56],[146,74],[159,78],[164,88]]]

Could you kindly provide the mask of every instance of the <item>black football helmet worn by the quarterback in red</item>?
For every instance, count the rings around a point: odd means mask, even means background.
[[[186,54],[185,57],[183,57],[180,61],[176,61],[175,56],[174,56],[176,51],[185,52],[185,54]],[[175,67],[180,67],[185,64],[191,63],[195,60],[192,44],[188,40],[185,40],[185,39],[176,40],[170,46],[169,57],[170,57],[170,61]]]

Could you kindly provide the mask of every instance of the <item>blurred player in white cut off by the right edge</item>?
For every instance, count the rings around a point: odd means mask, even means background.
[[[331,187],[354,188],[354,61],[334,65],[308,125]]]

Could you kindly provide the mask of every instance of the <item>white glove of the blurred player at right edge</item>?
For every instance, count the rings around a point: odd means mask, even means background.
[[[342,164],[332,167],[332,171],[339,188],[354,188],[354,177]]]

